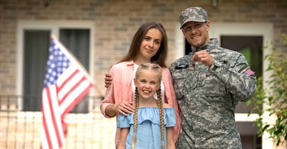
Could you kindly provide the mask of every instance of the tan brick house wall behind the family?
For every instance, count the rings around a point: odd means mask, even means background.
[[[21,40],[23,39],[19,37],[22,35],[19,32],[30,24],[32,26],[69,24],[68,26],[91,28],[90,51],[92,55],[90,55],[88,71],[96,82],[96,87],[91,92],[94,96],[104,96],[105,73],[112,64],[128,52],[130,41],[142,22],[159,21],[166,28],[168,65],[178,57],[178,53],[182,53],[182,49],[179,49],[182,46],[178,45],[182,44],[182,40],[178,38],[183,39],[183,36],[179,35],[177,17],[184,8],[190,6],[201,6],[207,10],[211,29],[213,24],[247,24],[247,26],[248,24],[259,26],[267,24],[271,27],[268,39],[274,40],[279,49],[282,46],[279,42],[281,34],[287,33],[286,0],[218,0],[216,7],[212,6],[212,1],[207,0],[0,0],[0,96],[21,93],[19,80],[23,78],[19,79],[19,73],[23,70],[19,64],[23,56],[21,54],[21,46],[23,46]],[[281,52],[287,53],[283,50]],[[17,102],[19,101],[15,100],[15,104]],[[97,106],[91,110],[96,111],[97,119],[101,120],[95,121],[114,123],[114,119],[106,120],[98,114]],[[5,106],[0,112],[3,109]],[[0,122],[1,119],[3,122],[3,114],[1,116]],[[114,124],[111,125],[114,127]],[[103,126],[106,125],[103,124]],[[103,128],[96,129],[103,130]],[[104,137],[105,141],[98,141],[96,148],[100,148],[99,146],[104,148],[101,143],[112,144],[114,139],[112,132],[108,133],[110,136]],[[107,141],[107,139],[112,141]],[[1,144],[3,145],[3,142],[0,143],[0,148]]]

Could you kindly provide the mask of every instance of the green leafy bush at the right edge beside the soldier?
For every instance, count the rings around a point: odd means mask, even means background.
[[[284,50],[287,51],[286,34],[283,35],[282,41]],[[259,136],[268,132],[270,138],[279,146],[287,141],[287,57],[277,53],[273,42],[265,49],[267,48],[271,49],[271,53],[266,55],[264,60],[269,62],[266,71],[271,72],[270,78],[257,78],[255,96],[247,101],[247,105],[254,106],[249,114],[256,112],[259,115],[255,120]],[[264,87],[263,81],[266,82]],[[269,116],[275,116],[274,123],[264,121],[263,116],[266,112]]]

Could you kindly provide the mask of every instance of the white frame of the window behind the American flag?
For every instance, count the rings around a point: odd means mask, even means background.
[[[23,94],[23,57],[24,57],[24,30],[37,29],[37,30],[51,30],[51,34],[59,37],[60,28],[87,28],[90,30],[89,38],[89,75],[94,78],[94,22],[93,21],[26,21],[20,20],[17,23],[17,81],[16,81],[16,94]],[[94,95],[94,89],[89,92]],[[19,110],[22,110],[22,99],[18,100]]]

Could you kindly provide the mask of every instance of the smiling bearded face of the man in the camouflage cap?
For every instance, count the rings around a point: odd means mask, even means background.
[[[192,46],[199,47],[207,42],[210,42],[209,39],[209,28],[210,23],[207,22],[197,22],[197,21],[189,21],[182,26],[182,33],[186,40]]]

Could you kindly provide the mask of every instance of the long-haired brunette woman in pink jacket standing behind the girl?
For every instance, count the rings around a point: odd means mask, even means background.
[[[112,84],[107,88],[105,99],[101,103],[101,112],[107,117],[119,113],[127,116],[133,112],[134,72],[140,64],[155,62],[162,67],[162,98],[175,109],[176,125],[174,140],[180,134],[180,114],[171,80],[171,73],[166,67],[167,36],[164,26],[157,22],[142,24],[135,33],[130,50],[125,57],[110,69]],[[157,96],[157,95],[155,95]],[[116,129],[116,145],[119,143],[119,128]]]

